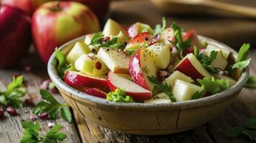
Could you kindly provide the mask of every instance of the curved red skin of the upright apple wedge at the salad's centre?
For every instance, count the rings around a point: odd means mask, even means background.
[[[143,54],[143,50],[138,49],[136,54],[134,54],[131,57],[128,69],[130,71],[131,77],[133,78],[133,81],[136,82],[136,84],[140,85],[144,89],[150,90],[146,82],[146,79],[144,77],[143,71],[141,69],[141,56],[143,56],[142,54]]]

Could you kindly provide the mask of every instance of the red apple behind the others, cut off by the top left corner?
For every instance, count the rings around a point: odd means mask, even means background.
[[[18,7],[32,16],[37,7],[48,1],[52,0],[1,0],[1,4]]]

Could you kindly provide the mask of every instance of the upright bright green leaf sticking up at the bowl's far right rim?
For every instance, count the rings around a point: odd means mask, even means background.
[[[251,60],[248,59],[249,52],[250,44],[243,44],[238,52],[237,62],[231,66],[231,69],[245,69]]]

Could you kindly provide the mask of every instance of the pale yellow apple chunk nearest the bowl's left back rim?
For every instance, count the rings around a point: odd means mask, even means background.
[[[90,53],[89,47],[83,41],[77,41],[75,46],[71,49],[70,53],[67,54],[67,63],[74,64],[75,61],[82,56],[82,54]]]

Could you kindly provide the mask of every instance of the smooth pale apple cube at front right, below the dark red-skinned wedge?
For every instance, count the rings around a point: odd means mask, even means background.
[[[202,90],[202,87],[177,79],[174,84],[173,94],[177,102],[182,102],[190,100],[196,92],[202,92]]]

